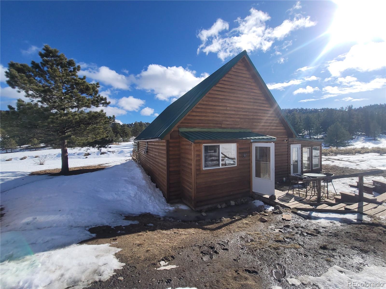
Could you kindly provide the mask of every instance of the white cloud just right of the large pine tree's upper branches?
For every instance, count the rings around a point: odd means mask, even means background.
[[[119,74],[107,66],[93,67],[92,65],[88,64],[82,65],[87,69],[78,72],[80,76],[85,75],[90,79],[110,85],[115,89],[128,90],[130,89],[130,84],[134,81],[133,76],[124,76],[123,74]]]

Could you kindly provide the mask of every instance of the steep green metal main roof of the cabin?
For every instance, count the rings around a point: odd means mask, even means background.
[[[140,133],[135,140],[146,140],[146,139],[156,139],[156,138],[164,138],[166,134],[168,134],[171,129],[202,99],[202,97],[207,94],[207,92],[217,84],[222,77],[227,74],[230,69],[239,62],[242,57],[245,56],[249,61],[254,71],[256,72],[257,77],[261,80],[264,89],[268,92],[268,95],[273,99],[275,105],[277,105],[280,113],[281,109],[279,108],[277,102],[273,98],[271,92],[267,88],[264,81],[261,79],[259,72],[257,72],[256,67],[252,64],[251,59],[248,57],[247,52],[244,50],[236,57],[229,60],[226,64],[224,64],[220,69],[213,72],[206,79],[201,81],[195,87],[193,87],[190,91],[186,92],[179,99],[171,103],[159,116],[157,116],[154,121],[152,121],[149,126],[147,126],[142,133]],[[284,114],[281,113],[284,120],[288,123],[289,128],[293,131],[295,136],[297,136],[295,130],[292,128],[291,124],[285,118]]]

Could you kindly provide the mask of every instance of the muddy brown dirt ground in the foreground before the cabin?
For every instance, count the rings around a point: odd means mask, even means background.
[[[90,229],[97,237],[83,243],[122,248],[116,257],[126,264],[90,288],[290,288],[286,277],[320,276],[333,265],[352,271],[386,265],[386,227],[380,223],[320,226],[289,209],[283,211],[292,220],[284,221],[271,212],[251,215],[248,204],[232,206],[239,215],[231,218],[229,209],[214,210],[225,212],[219,221],[140,215],[127,218],[139,224]],[[178,267],[156,270],[160,261]]]

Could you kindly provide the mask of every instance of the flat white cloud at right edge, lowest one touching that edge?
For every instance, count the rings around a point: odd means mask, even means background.
[[[357,81],[356,77],[339,77],[337,82],[340,86],[323,87],[323,93],[327,94],[348,94],[355,92],[372,91],[386,86],[386,78],[375,78],[370,82]]]

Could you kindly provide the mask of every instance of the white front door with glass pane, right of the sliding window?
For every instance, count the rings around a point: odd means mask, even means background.
[[[275,193],[275,144],[252,143],[252,191]]]

